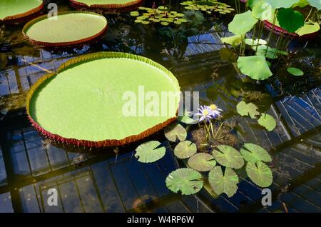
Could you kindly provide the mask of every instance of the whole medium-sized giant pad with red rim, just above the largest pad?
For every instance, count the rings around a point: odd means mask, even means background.
[[[29,21],[24,36],[31,43],[42,46],[68,46],[91,41],[103,35],[107,20],[100,14],[83,11],[58,13],[56,19],[47,15]]]

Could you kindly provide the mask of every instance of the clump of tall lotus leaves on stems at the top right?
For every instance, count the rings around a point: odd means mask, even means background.
[[[296,6],[305,7],[310,4],[312,8],[320,10],[321,3],[314,0],[248,0],[247,4],[250,9],[242,14],[236,14],[233,21],[228,25],[229,31],[234,36],[223,38],[223,41],[233,46],[240,45],[238,68],[243,74],[250,76],[252,79],[265,80],[272,76],[270,63],[267,59],[276,59],[278,56],[287,55],[286,51],[278,49],[278,46],[282,46],[282,36],[281,39],[278,39],[276,48],[269,45],[274,27],[278,26],[289,33],[297,34],[297,36],[305,36],[318,31],[320,29],[318,24],[308,21],[308,16],[304,18],[300,11],[295,11],[293,8]],[[255,25],[258,21],[260,21],[260,25],[257,29]],[[261,39],[263,21],[269,21],[272,24],[267,41]],[[252,29],[253,39],[245,39],[245,34]],[[254,56],[244,56],[247,44],[252,46],[255,51]],[[287,49],[286,46],[285,49]],[[288,68],[287,71],[294,76],[304,74],[300,69],[293,67]]]

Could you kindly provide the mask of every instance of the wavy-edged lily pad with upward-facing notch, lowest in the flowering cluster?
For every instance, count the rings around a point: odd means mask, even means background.
[[[225,168],[223,174],[222,168],[215,166],[208,173],[208,182],[218,195],[225,193],[228,197],[232,197],[238,190],[238,175],[231,168]]]

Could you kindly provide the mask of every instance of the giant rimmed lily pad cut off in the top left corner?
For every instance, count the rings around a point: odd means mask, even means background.
[[[1,0],[0,21],[14,21],[36,14],[44,8],[42,0]]]

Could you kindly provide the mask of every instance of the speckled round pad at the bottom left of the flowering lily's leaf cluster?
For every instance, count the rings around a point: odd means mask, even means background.
[[[170,191],[180,191],[186,196],[198,193],[203,188],[202,175],[191,168],[176,169],[167,176],[165,183]]]

